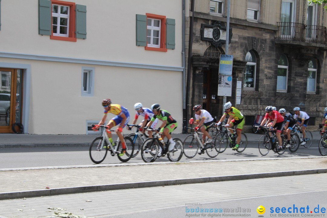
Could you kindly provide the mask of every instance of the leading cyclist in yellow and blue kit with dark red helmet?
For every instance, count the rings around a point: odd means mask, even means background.
[[[119,140],[122,143],[122,152],[118,155],[123,156],[126,153],[126,145],[124,143],[124,137],[121,132],[129,122],[129,112],[126,108],[124,108],[121,105],[111,104],[111,99],[109,98],[106,98],[102,101],[102,106],[104,107],[104,114],[102,120],[99,122],[98,125],[102,125],[105,123],[108,113],[112,113],[116,115],[114,118],[112,118],[109,121],[109,124],[107,126],[109,127],[108,129],[111,129],[114,126],[119,125],[118,128],[115,130],[115,132],[117,133]],[[99,127],[95,127],[93,130],[96,131],[96,129],[98,128]],[[112,145],[114,145],[111,132],[108,132],[107,134],[108,134],[109,141],[112,143]]]

